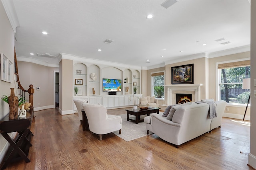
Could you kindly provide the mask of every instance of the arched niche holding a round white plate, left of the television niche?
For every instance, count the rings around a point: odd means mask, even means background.
[[[93,64],[88,68],[88,95],[94,95],[92,88],[94,88],[95,95],[100,95],[100,67]]]

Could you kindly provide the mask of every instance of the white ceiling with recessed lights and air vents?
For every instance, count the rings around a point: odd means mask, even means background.
[[[65,53],[152,68],[175,59],[189,60],[195,54],[210,56],[250,47],[248,0],[178,0],[167,9],[160,5],[163,2],[14,0],[20,24],[15,34],[16,55],[58,64],[57,58],[36,53]],[[154,17],[146,19],[147,14]],[[224,40],[215,41],[220,38]],[[106,44],[106,39],[113,42]]]

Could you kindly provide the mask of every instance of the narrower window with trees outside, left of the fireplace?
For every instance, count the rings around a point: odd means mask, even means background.
[[[152,94],[164,99],[164,72],[152,73]]]

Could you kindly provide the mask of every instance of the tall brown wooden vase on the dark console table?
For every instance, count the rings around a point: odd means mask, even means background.
[[[9,108],[10,108],[9,120],[17,119],[18,118],[19,99],[14,94],[14,88],[11,88],[11,94],[8,97],[8,104],[9,104]]]

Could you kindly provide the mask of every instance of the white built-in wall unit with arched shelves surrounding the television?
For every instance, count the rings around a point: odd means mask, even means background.
[[[78,93],[74,91],[74,98],[88,101],[90,104],[100,104],[107,108],[115,108],[133,105],[134,88],[137,88],[137,97],[140,94],[140,70],[120,69],[112,66],[100,67],[96,64],[74,62],[74,88],[78,87]],[[109,95],[102,90],[102,78],[122,80],[122,91],[116,95]],[[137,105],[139,100],[137,100]],[[74,110],[76,106],[74,105]]]

